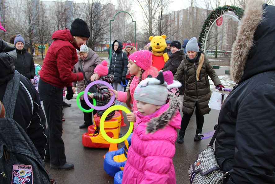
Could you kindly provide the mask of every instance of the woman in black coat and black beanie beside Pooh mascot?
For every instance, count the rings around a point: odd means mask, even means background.
[[[172,41],[170,44],[170,50],[172,54],[169,55],[168,61],[164,64],[162,71],[165,72],[170,70],[173,75],[177,72],[178,66],[183,60],[184,52],[180,50],[181,44],[178,41]],[[183,75],[182,79],[179,81],[182,83],[182,86],[179,88],[179,94],[183,95],[184,93],[184,83],[185,83],[185,75]]]

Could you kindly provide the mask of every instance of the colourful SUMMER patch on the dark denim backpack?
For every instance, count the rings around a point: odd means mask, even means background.
[[[11,184],[33,184],[33,180],[31,165],[13,165]]]

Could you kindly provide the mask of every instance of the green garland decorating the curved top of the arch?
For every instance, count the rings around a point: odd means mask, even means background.
[[[225,5],[223,7],[217,7],[216,9],[214,9],[206,18],[202,28],[201,28],[201,33],[199,36],[199,42],[201,42],[202,44],[202,48],[206,48],[205,43],[207,42],[207,34],[210,31],[210,28],[212,27],[212,25],[220,18],[223,16],[223,14],[225,14],[225,12],[234,12],[235,15],[238,17],[238,19],[240,20],[242,15],[243,15],[243,9],[240,7],[236,7],[236,6],[229,6],[229,5]],[[236,18],[236,17],[235,17]]]

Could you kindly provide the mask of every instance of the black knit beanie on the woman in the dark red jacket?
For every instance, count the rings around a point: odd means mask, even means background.
[[[90,38],[90,30],[88,28],[88,24],[79,18],[75,19],[71,24],[70,32],[73,36]]]

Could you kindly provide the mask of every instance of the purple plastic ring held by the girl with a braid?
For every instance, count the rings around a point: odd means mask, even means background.
[[[84,90],[84,100],[85,100],[86,104],[87,104],[89,107],[91,107],[91,108],[93,108],[93,109],[95,109],[95,110],[104,110],[104,109],[109,108],[109,107],[113,104],[113,102],[115,101],[115,93],[114,93],[114,92],[112,92],[113,95],[111,96],[111,99],[110,99],[109,103],[107,103],[105,106],[94,106],[94,105],[92,105],[91,102],[88,100],[88,91],[89,91],[90,87],[92,87],[92,86],[95,85],[95,84],[104,84],[104,85],[106,85],[107,87],[109,87],[109,89],[114,89],[114,88],[111,86],[111,84],[107,83],[106,81],[102,81],[102,80],[93,81],[93,82],[89,83],[88,86],[87,86],[87,87],[85,88],[85,90]]]

